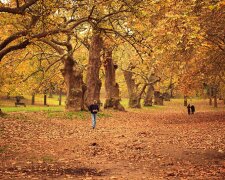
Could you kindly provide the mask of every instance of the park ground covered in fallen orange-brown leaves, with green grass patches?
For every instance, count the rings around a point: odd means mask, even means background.
[[[225,179],[224,105],[193,101],[103,110],[94,130],[87,112],[3,107],[0,179]]]

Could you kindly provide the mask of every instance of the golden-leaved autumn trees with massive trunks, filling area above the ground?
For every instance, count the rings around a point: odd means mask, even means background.
[[[66,109],[225,97],[223,0],[2,0],[0,91],[66,93]]]

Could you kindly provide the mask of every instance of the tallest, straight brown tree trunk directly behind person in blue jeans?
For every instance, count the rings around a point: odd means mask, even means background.
[[[99,70],[101,66],[102,38],[100,33],[95,33],[92,37],[89,49],[89,62],[87,69],[87,94],[86,105],[89,106],[94,100],[100,104],[101,80]]]

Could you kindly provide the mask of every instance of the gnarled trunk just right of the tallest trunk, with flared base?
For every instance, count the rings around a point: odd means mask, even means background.
[[[105,90],[106,100],[104,108],[114,108],[120,111],[125,111],[120,104],[119,85],[116,83],[116,69],[117,65],[113,63],[112,50],[106,49],[104,52],[104,68],[105,68]]]

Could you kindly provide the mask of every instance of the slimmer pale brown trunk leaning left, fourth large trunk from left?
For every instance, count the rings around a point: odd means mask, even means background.
[[[124,78],[127,84],[128,94],[129,94],[129,107],[131,108],[141,108],[141,97],[137,92],[137,87],[134,79],[132,78],[133,73],[131,71],[123,71]]]

